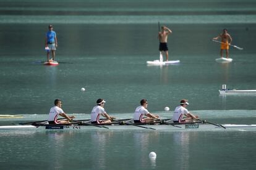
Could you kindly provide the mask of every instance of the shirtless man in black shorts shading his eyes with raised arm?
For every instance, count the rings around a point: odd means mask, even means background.
[[[169,28],[166,26],[161,26],[161,31],[158,33],[158,39],[160,40],[160,45],[159,45],[159,51],[163,55],[163,52],[165,52],[166,55],[166,62],[168,61],[168,44],[167,44],[167,39],[168,39],[168,34],[173,33]]]

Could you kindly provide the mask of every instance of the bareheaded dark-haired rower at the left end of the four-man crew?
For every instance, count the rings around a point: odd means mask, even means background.
[[[52,107],[49,111],[49,118],[48,118],[49,124],[66,124],[66,123],[70,123],[70,121],[72,121],[72,119],[75,118],[75,116],[68,116],[66,113],[64,113],[61,107],[62,107],[62,101],[60,99],[54,100],[54,107]],[[66,119],[58,121],[59,115]]]

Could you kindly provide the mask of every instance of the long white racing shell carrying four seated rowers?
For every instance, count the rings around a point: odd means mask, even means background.
[[[107,128],[101,128],[107,127]],[[256,130],[256,124],[214,124],[214,123],[157,123],[157,124],[58,124],[58,125],[15,125],[15,126],[0,126],[0,130],[64,130],[64,131],[82,131],[82,130],[92,130],[92,129],[104,129],[104,130],[137,130],[137,129],[150,129],[150,130],[242,130],[242,129],[254,129]]]

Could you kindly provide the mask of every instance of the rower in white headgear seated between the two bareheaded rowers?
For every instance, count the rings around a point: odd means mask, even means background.
[[[109,116],[108,113],[106,113],[104,109],[104,105],[106,101],[103,99],[98,99],[96,103],[97,105],[92,109],[91,123],[93,124],[111,123],[115,118],[113,116]],[[107,118],[107,120],[100,120],[100,116],[104,116],[105,118]]]

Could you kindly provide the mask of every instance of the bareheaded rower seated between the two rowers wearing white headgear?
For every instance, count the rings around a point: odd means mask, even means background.
[[[155,119],[159,119],[158,115],[153,115],[147,110],[148,100],[142,99],[140,100],[140,106],[135,109],[134,112],[134,123],[150,123],[154,122]],[[143,118],[143,116],[147,116],[147,118]]]

